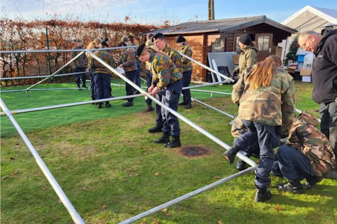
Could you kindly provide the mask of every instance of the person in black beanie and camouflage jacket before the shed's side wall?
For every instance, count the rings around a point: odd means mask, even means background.
[[[176,38],[176,43],[180,44],[178,51],[188,57],[192,57],[192,49],[186,43],[186,39],[183,36],[178,36]],[[182,56],[183,62],[183,87],[189,86],[191,83],[192,77],[192,61]],[[186,109],[190,109],[192,107],[191,104],[191,91],[190,89],[183,90],[184,100],[179,103],[179,105],[185,105]]]

